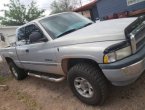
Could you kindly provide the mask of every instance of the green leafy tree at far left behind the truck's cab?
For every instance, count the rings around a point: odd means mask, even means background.
[[[4,10],[4,17],[0,18],[2,25],[23,25],[43,16],[44,13],[44,10],[38,9],[34,1],[25,6],[19,0],[10,0],[10,4],[4,6],[8,7],[8,10]]]

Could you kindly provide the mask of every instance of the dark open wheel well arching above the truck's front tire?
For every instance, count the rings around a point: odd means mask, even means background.
[[[62,69],[63,69],[64,73],[67,74],[69,69],[78,63],[89,63],[89,64],[95,65],[96,67],[100,68],[98,63],[94,60],[84,59],[84,58],[71,58],[71,59],[64,59],[62,61]]]

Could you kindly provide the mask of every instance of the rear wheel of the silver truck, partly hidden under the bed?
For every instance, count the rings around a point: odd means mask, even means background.
[[[27,71],[17,67],[16,64],[12,61],[9,62],[9,68],[16,80],[23,80],[28,76]]]

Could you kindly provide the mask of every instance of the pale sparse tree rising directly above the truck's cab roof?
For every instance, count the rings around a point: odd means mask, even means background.
[[[72,11],[78,4],[78,0],[55,0],[51,4],[51,14]]]

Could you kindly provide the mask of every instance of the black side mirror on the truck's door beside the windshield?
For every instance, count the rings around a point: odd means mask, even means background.
[[[47,38],[43,37],[40,32],[32,32],[29,36],[30,43],[35,43],[39,41],[47,42]]]

